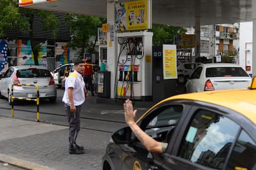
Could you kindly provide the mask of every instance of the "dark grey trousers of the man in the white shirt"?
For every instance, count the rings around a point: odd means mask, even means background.
[[[76,113],[70,111],[70,106],[65,104],[66,115],[68,118],[69,125],[69,148],[73,148],[76,144],[78,132],[80,131],[80,111],[81,106],[76,106]]]

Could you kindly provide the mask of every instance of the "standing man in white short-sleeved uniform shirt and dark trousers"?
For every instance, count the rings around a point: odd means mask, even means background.
[[[85,98],[88,97],[87,89],[82,77],[84,61],[74,62],[74,72],[69,74],[65,81],[65,92],[62,101],[65,103],[66,115],[69,124],[69,154],[83,154],[84,147],[76,143],[80,130],[80,110]]]

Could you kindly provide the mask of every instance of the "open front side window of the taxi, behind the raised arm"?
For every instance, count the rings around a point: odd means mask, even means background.
[[[150,117],[146,121],[146,133],[157,141],[167,142],[166,136],[171,131],[182,115],[183,106],[172,105],[163,106],[151,113],[154,117]]]

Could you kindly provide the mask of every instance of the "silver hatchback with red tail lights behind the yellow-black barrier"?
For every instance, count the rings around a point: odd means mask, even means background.
[[[43,66],[12,66],[0,77],[0,97],[8,98],[11,104],[12,84],[37,84],[39,87],[40,99],[49,99],[55,102],[57,90],[53,77],[49,70]],[[15,85],[13,86],[15,98],[36,98],[37,89],[35,86]]]

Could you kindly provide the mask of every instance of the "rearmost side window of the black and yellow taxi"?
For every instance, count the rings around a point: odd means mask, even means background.
[[[235,143],[227,169],[252,169],[256,161],[256,144],[246,132],[242,131]]]

